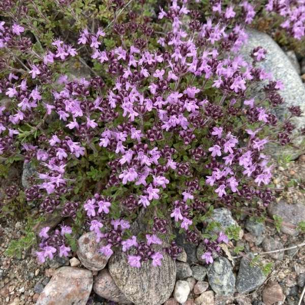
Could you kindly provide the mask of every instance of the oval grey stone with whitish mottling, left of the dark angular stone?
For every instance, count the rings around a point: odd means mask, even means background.
[[[217,258],[207,268],[208,283],[219,295],[232,295],[235,288],[235,276],[231,263],[225,257]]]

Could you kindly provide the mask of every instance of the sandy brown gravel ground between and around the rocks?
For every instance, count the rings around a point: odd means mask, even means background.
[[[277,166],[273,178],[273,184],[277,189],[277,201],[283,199],[288,203],[305,204],[305,155],[298,160],[291,162],[287,168]],[[33,252],[22,253],[21,259],[8,258],[4,255],[9,242],[12,239],[22,237],[21,228],[25,223],[16,222],[13,219],[0,220],[0,304],[10,305],[32,305],[36,303],[43,287],[50,280],[55,268],[68,264],[68,261],[52,262],[48,265],[38,265]],[[304,234],[292,237],[278,233],[271,224],[265,225],[264,237],[272,237],[281,242],[284,248],[297,245],[305,241]],[[262,245],[256,246],[253,236],[247,233],[240,241],[245,249],[252,252],[263,252]],[[305,247],[300,250],[285,251],[282,260],[275,254],[261,256],[264,262],[273,262],[272,272],[268,280],[277,281],[286,300],[282,304],[297,305],[302,288],[305,283]],[[236,269],[238,268],[236,260]],[[265,285],[246,298],[230,298],[225,303],[246,304],[251,302],[254,305],[261,305],[262,291]],[[102,305],[109,302],[93,294],[88,304]],[[305,301],[303,302],[305,304]]]

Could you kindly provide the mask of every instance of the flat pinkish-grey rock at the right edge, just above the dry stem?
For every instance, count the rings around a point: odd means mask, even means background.
[[[289,227],[289,224],[297,226],[300,221],[305,220],[305,205],[302,203],[288,204],[281,200],[268,205],[268,214],[271,217],[273,215],[282,217],[284,224],[281,226],[281,231],[295,236],[299,231]]]

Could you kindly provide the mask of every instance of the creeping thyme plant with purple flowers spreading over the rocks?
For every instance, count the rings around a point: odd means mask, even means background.
[[[257,67],[263,47],[251,62],[239,55],[245,28],[263,8],[301,40],[305,4],[105,3],[1,4],[10,8],[0,21],[1,160],[31,163],[36,174],[26,201],[70,224],[44,227],[37,257],[69,256],[73,240],[93,231],[105,256],[122,251],[134,267],[147,260],[159,266],[165,253],[175,258],[181,251],[177,228],[190,242],[203,241],[202,259],[211,263],[222,243],[238,238],[233,229],[212,233],[212,209],[238,211],[247,203],[264,216],[273,200],[264,148],[290,142],[289,120],[300,115],[291,107],[278,123],[283,84]],[[30,13],[37,22],[27,20]],[[50,26],[41,33],[44,23]],[[88,76],[73,76],[75,63]],[[6,202],[20,192],[9,187]],[[147,228],[135,236],[140,212]]]

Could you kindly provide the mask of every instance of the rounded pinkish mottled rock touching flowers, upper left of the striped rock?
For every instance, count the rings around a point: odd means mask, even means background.
[[[96,234],[88,232],[80,236],[77,243],[77,256],[87,269],[99,271],[106,266],[109,258],[99,252],[99,249],[106,245],[106,241],[97,242]]]

